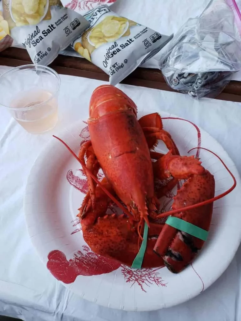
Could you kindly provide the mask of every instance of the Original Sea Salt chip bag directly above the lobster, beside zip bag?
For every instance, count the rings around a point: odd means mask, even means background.
[[[120,17],[105,5],[84,17],[89,28],[70,46],[109,74],[112,85],[121,82],[173,37]]]

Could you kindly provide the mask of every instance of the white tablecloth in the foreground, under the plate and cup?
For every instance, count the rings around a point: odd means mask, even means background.
[[[0,73],[7,69],[0,66]],[[28,173],[52,134],[78,118],[87,118],[91,93],[103,83],[66,75],[61,75],[61,81],[60,119],[48,133],[28,134],[6,110],[0,109],[0,314],[28,321],[240,321],[241,248],[218,281],[198,297],[173,308],[145,313],[112,310],[87,302],[69,292],[40,262],[24,220],[23,195]],[[205,129],[223,145],[241,173],[240,103],[196,101],[174,92],[119,87],[137,103],[139,113],[141,106],[148,104]]]

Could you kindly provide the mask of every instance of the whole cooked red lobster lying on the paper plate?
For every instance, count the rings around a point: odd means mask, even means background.
[[[89,188],[78,214],[86,243],[95,253],[131,266],[146,222],[142,267],[165,264],[174,273],[182,271],[204,241],[161,224],[160,218],[172,214],[208,231],[217,199],[213,175],[194,156],[180,156],[158,113],[138,120],[135,103],[116,87],[96,88],[89,114],[91,140],[81,145],[78,155]],[[153,152],[158,140],[169,150],[166,155]],[[105,178],[97,184],[100,169]],[[167,185],[155,194],[154,182],[166,178]],[[174,197],[172,211],[158,213],[158,199],[181,179],[186,181]],[[106,214],[112,200],[123,214]]]

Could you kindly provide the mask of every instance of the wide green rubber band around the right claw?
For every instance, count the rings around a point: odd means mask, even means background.
[[[192,223],[186,222],[175,216],[169,216],[166,220],[166,224],[174,227],[177,230],[186,232],[198,239],[206,241],[208,238],[208,231],[201,229],[200,227],[193,225]]]

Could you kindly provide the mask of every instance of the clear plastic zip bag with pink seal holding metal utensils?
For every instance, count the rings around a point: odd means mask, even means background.
[[[235,0],[212,0],[167,45],[167,84],[194,98],[216,97],[241,68],[241,14]]]

